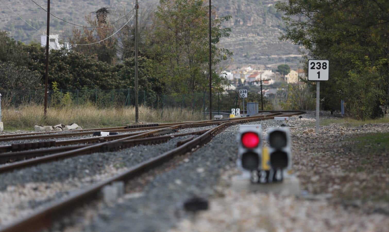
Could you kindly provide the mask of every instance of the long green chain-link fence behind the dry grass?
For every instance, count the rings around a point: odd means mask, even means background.
[[[25,104],[44,104],[44,90],[0,90],[4,107],[18,107]],[[180,108],[194,112],[209,112],[209,92],[190,94],[158,95],[139,91],[139,105],[151,108]],[[251,101],[259,102],[260,94],[250,93]],[[47,93],[48,107],[63,107],[67,105],[93,104],[96,107],[124,107],[135,105],[135,90],[49,90]],[[231,108],[243,108],[242,98],[238,91],[230,90],[212,93],[212,111],[230,111]]]

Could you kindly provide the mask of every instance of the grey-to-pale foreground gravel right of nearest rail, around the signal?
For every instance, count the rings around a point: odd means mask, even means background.
[[[331,115],[324,114],[324,117],[331,118]],[[299,176],[306,157],[298,155],[296,149],[305,149],[316,135],[301,134],[314,122],[314,114],[303,115],[301,125],[297,119],[298,116],[290,117],[286,125],[298,127],[291,130],[291,134],[296,153],[294,170]],[[266,135],[267,128],[278,127],[281,123],[267,120],[250,124],[262,124]],[[227,128],[176,168],[150,178],[136,197],[124,197],[115,206],[102,207],[91,223],[79,224],[68,231],[385,231],[389,226],[385,213],[366,213],[362,208],[347,207],[321,195],[312,196],[310,194],[315,193],[307,191],[304,181],[300,198],[231,191],[228,187],[230,176],[237,173],[238,127]],[[327,134],[328,130],[338,127],[331,125],[321,127],[321,130]],[[306,139],[296,142],[302,136]],[[333,137],[333,134],[325,136]],[[320,143],[326,146],[323,141],[312,145],[319,146]],[[312,176],[312,167],[307,166],[304,170],[309,169]],[[182,209],[182,205],[194,195],[209,199],[210,210],[191,220],[193,217]]]

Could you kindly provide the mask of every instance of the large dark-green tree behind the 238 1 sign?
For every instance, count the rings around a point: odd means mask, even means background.
[[[389,2],[293,0],[276,7],[285,12],[280,39],[303,47],[305,59],[329,60],[324,109],[340,109],[343,99],[351,117],[380,116],[379,106],[389,105]]]

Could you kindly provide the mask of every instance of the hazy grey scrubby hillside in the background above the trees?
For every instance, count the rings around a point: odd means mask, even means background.
[[[46,12],[32,1],[4,0],[19,16],[42,32],[46,32]],[[35,0],[46,9],[46,0]],[[123,12],[131,9],[135,1],[123,0],[51,0],[51,13],[67,21],[85,25],[84,16],[101,7],[111,7],[111,12]],[[217,14],[233,16],[226,26],[231,27],[231,36],[221,41],[221,45],[234,52],[233,65],[257,65],[283,63],[292,65],[298,63],[297,47],[290,42],[278,40],[284,30],[282,14],[273,5],[274,0],[215,0]],[[155,7],[158,0],[139,0],[142,7]],[[0,30],[7,30],[11,35],[23,42],[40,41],[40,33],[31,28],[4,4],[0,3]],[[122,20],[123,21],[123,20]],[[123,23],[123,22],[122,22]],[[72,34],[72,25],[51,17],[51,34],[60,34],[60,39],[66,39]]]

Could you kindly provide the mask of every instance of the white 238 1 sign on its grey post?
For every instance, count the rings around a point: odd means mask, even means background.
[[[328,81],[328,72],[328,60],[308,60],[308,81],[316,81],[316,134],[319,134],[320,81]]]

